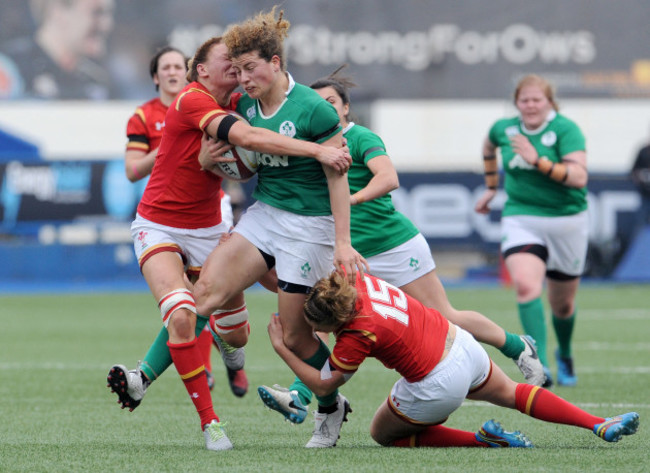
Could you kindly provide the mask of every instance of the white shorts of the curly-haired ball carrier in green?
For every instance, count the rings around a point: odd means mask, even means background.
[[[334,217],[298,215],[255,202],[235,232],[275,258],[278,280],[312,287],[334,270]]]

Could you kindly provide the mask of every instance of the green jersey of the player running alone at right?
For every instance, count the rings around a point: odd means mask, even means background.
[[[519,133],[528,138],[540,157],[546,156],[556,163],[562,162],[562,156],[568,153],[585,151],[580,128],[563,115],[553,113],[544,126],[533,132],[522,127],[518,116],[498,120],[488,137],[500,149],[503,161],[508,196],[503,215],[558,217],[586,210],[586,187],[577,189],[556,182],[513,152],[510,137]]]

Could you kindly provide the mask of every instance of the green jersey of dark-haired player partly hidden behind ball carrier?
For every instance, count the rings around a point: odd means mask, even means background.
[[[377,156],[388,155],[384,142],[361,125],[350,123],[343,130],[352,155],[348,171],[350,194],[368,185],[373,177],[367,163]],[[410,240],[419,233],[404,215],[395,210],[390,194],[353,205],[350,214],[352,247],[365,258],[383,253]]]

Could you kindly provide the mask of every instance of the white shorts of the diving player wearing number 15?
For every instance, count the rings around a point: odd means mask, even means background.
[[[489,375],[487,352],[469,332],[456,326],[456,338],[445,359],[421,381],[409,383],[400,378],[393,385],[388,404],[406,422],[440,424]]]

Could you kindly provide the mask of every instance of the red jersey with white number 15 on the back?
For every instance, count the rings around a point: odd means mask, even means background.
[[[357,316],[336,332],[330,363],[353,373],[367,357],[381,361],[409,382],[438,364],[449,330],[447,319],[398,287],[357,273]]]

